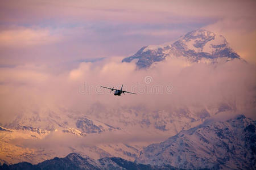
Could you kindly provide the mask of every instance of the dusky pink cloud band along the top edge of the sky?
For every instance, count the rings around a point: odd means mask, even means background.
[[[254,13],[254,1],[23,1],[1,2],[5,22],[43,20],[109,20],[125,22],[168,23],[197,22],[205,18],[248,16]],[[10,14],[10,10],[16,10]],[[22,17],[21,17],[22,16]]]

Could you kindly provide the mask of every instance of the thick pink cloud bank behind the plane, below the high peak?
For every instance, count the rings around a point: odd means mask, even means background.
[[[76,69],[62,73],[47,72],[47,67],[14,67],[2,69],[1,100],[9,102],[22,96],[22,108],[28,105],[49,107],[65,106],[86,112],[100,101],[107,108],[135,107],[141,105],[150,110],[201,105],[217,106],[228,103],[236,106],[237,112],[245,108],[253,111],[255,74],[254,66],[241,61],[229,61],[218,66],[203,63],[186,65],[182,59],[160,62],[148,70],[137,70],[135,63],[122,63],[122,57],[103,59],[97,62],[82,62]],[[16,74],[15,74],[16,73]],[[150,82],[145,78],[150,77]],[[138,95],[113,96],[100,86],[120,88]],[[40,97],[38,97],[40,96]],[[121,102],[122,101],[122,102]],[[5,104],[2,110],[6,109]],[[10,108],[9,108],[10,109]],[[19,108],[15,107],[18,112]],[[2,124],[5,114],[2,112]],[[13,114],[10,114],[13,115]],[[11,117],[8,115],[7,117]]]

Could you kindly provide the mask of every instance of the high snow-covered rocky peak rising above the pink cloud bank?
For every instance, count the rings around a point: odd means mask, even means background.
[[[154,62],[174,57],[184,58],[191,63],[215,63],[234,58],[240,59],[240,56],[230,48],[224,36],[205,29],[197,29],[181,36],[173,44],[144,46],[133,56],[124,58],[122,62],[138,59],[138,68],[146,68]]]

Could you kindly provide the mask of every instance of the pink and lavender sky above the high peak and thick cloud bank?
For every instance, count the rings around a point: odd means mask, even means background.
[[[30,63],[70,69],[81,61],[127,57],[198,28],[221,33],[238,54],[256,62],[255,1],[0,3],[2,67]]]

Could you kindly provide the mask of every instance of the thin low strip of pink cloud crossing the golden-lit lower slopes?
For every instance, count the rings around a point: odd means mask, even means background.
[[[157,137],[157,138],[156,138]],[[77,147],[77,146],[100,146],[118,143],[147,143],[148,141],[160,142],[167,139],[164,135],[145,134],[141,131],[134,131],[133,134],[122,131],[104,132],[99,134],[89,134],[86,137],[79,137],[73,134],[63,133],[62,131],[52,131],[49,135],[42,139],[23,139],[14,138],[10,142],[15,145],[23,145],[28,148],[47,148],[47,150],[56,150],[59,148]]]

